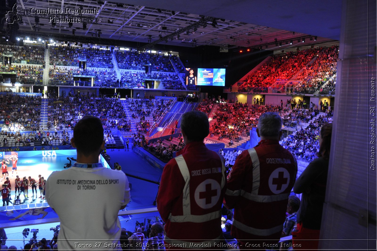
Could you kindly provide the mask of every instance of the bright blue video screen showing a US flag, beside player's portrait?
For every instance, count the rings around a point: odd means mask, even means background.
[[[198,85],[225,86],[225,69],[198,68]]]

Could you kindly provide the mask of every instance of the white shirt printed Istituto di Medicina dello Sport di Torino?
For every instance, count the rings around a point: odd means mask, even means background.
[[[63,180],[71,184],[65,184]],[[110,180],[116,183],[110,184]],[[83,185],[83,181],[95,184]],[[84,189],[84,186],[91,189]],[[59,250],[88,249],[79,248],[75,242],[90,243],[90,249],[106,249],[103,245],[96,248],[97,242],[119,243],[118,212],[130,201],[129,183],[122,171],[105,167],[70,167],[52,172],[46,182],[46,200],[60,218]]]

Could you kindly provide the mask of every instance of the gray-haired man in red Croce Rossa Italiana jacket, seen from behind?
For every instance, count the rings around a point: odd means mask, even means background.
[[[227,177],[224,204],[234,208],[231,235],[241,249],[279,248],[288,197],[297,174],[294,156],[279,144],[282,119],[273,112],[259,117],[259,143],[244,150]],[[245,245],[248,243],[248,245]]]

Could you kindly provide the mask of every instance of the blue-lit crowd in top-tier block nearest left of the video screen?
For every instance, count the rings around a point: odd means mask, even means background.
[[[151,71],[174,72],[169,56],[161,54],[116,51],[116,60],[120,69],[145,70],[144,65],[150,65]]]

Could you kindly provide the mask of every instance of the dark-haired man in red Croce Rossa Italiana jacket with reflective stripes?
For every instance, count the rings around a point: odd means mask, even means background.
[[[166,222],[165,242],[185,243],[187,248],[202,243],[214,246],[222,242],[224,160],[203,143],[209,133],[205,113],[184,113],[181,130],[185,147],[164,167],[157,196],[158,211]]]

